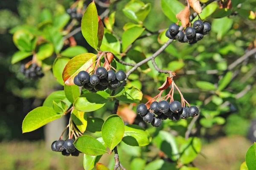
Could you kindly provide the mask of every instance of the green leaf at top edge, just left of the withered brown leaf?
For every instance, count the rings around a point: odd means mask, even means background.
[[[176,15],[185,8],[178,0],[161,0],[161,8],[166,17],[173,23],[177,23]],[[201,16],[201,14],[200,14]]]

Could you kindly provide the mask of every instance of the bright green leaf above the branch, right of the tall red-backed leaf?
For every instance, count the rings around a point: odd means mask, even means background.
[[[122,51],[124,52],[125,49],[127,49],[127,47],[131,45],[131,43],[133,43],[138,37],[140,37],[144,30],[145,28],[141,28],[138,26],[134,26],[126,30],[122,35]]]

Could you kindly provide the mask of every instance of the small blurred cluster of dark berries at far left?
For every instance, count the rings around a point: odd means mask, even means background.
[[[44,76],[41,67],[32,63],[29,68],[26,69],[25,64],[20,64],[20,72],[26,76],[26,78],[41,78]]]

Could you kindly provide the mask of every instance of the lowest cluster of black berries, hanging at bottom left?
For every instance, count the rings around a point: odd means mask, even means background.
[[[79,150],[76,149],[75,145],[73,144],[73,139],[58,140],[52,143],[52,150],[55,152],[61,152],[64,156],[79,156],[81,153]]]

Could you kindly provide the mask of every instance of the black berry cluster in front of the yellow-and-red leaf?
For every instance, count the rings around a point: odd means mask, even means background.
[[[90,92],[103,91],[105,89],[114,90],[124,81],[126,74],[119,70],[116,73],[113,70],[107,71],[104,67],[98,67],[94,75],[86,71],[81,71],[74,78],[74,84],[84,86]]]

